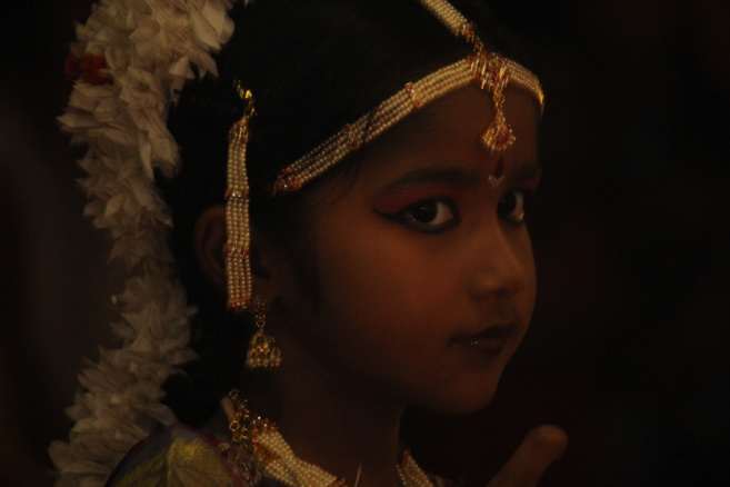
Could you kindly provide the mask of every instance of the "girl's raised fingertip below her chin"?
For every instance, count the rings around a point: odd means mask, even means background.
[[[568,435],[558,426],[543,425],[532,429],[512,458],[487,487],[533,487],[544,470],[562,456]]]

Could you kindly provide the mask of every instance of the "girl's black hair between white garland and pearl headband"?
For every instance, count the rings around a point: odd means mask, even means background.
[[[477,21],[484,41],[514,57],[494,36],[501,29],[481,2],[453,3]],[[219,76],[186,87],[171,107],[169,128],[183,162],[174,179],[160,182],[173,213],[181,279],[199,308],[191,346],[200,359],[166,385],[168,405],[191,426],[238,385],[248,342],[247,324],[226,312],[226,297],[200,275],[192,248],[198,216],[223,202],[227,135],[243,110],[233,82],[256,99],[247,150],[252,223],[292,246],[308,230],[308,189],[272,199],[276,173],[407,81],[471,51],[414,0],[260,0],[234,8],[231,17],[236,31],[217,56]]]

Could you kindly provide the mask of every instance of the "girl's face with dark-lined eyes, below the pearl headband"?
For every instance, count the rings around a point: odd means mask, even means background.
[[[283,327],[284,362],[374,400],[451,413],[489,402],[534,301],[522,213],[539,179],[537,112],[507,90],[517,141],[491,156],[479,141],[491,99],[460,89],[369,147],[354,182],[326,183],[320,300]]]

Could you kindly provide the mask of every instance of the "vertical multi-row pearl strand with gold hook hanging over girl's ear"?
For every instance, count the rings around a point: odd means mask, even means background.
[[[246,103],[243,116],[228,133],[228,189],[226,190],[226,276],[228,306],[241,311],[251,301],[251,261],[249,251],[249,178],[246,171],[246,146],[249,141],[249,120],[256,113],[253,93],[236,81],[234,89]]]

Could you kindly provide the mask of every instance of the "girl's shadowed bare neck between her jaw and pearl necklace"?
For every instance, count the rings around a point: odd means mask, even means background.
[[[293,357],[256,375],[244,395],[273,419],[294,454],[353,487],[396,486],[404,405],[373,400],[333,384]]]

